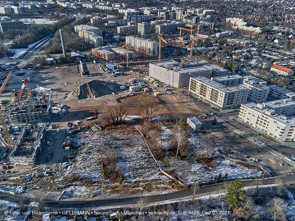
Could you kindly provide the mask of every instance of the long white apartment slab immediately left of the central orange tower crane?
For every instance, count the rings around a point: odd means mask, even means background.
[[[144,53],[150,56],[158,55],[158,42],[152,42],[148,39],[133,36],[127,36],[125,42],[128,47],[134,48],[136,51],[142,50]]]

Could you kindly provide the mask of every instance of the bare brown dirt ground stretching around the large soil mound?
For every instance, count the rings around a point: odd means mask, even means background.
[[[66,105],[68,107],[68,112],[65,116],[60,117],[53,115],[50,124],[55,125],[53,130],[60,129],[56,136],[50,136],[52,131],[47,131],[45,147],[42,150],[42,153],[38,157],[39,165],[38,168],[54,167],[56,164],[63,162],[69,155],[69,153],[62,149],[61,145],[66,136],[66,128],[68,121],[81,121],[86,117],[91,116],[91,113],[98,111],[99,113],[104,113],[106,108],[117,104],[117,96],[115,95],[105,95],[96,99],[83,99],[83,100],[69,100],[65,96],[70,93],[74,88],[79,84],[85,83],[89,80],[115,80],[116,83],[125,85],[125,83],[130,83],[128,79],[136,77],[137,79],[142,80],[141,77],[138,77],[135,73],[125,72],[124,76],[112,77],[109,74],[103,73],[101,76],[94,77],[80,77],[77,74],[77,67],[58,67],[58,68],[47,68],[40,70],[14,70],[11,78],[9,79],[8,84],[5,87],[5,91],[1,94],[1,99],[10,100],[12,99],[12,94],[9,90],[19,89],[22,85],[22,80],[27,74],[30,74],[30,87],[36,87],[40,85],[42,87],[47,87],[52,89],[51,100],[53,103],[59,103]],[[65,84],[65,82],[70,82],[71,84]],[[76,84],[75,84],[76,83]],[[157,103],[155,115],[159,114],[177,114],[181,113],[184,116],[200,116],[200,111],[194,105],[190,105],[188,101],[184,100],[182,97],[178,97],[176,93],[167,94],[161,88],[156,88],[152,83],[146,82],[148,88],[157,89],[160,91],[161,95],[154,97],[152,95],[140,94],[132,97],[127,97],[121,99],[123,104],[126,104],[129,107],[129,115],[139,115],[140,111],[138,108],[138,102],[144,98],[144,96],[152,96],[155,102]],[[187,105],[186,105],[187,104]],[[94,117],[92,121],[86,121],[83,123],[83,126],[89,125],[95,121],[99,120],[99,116]],[[277,159],[276,156],[272,155],[268,150],[261,149],[259,146],[254,146],[250,141],[240,138],[238,135],[235,135],[233,132],[223,128],[221,125],[217,124],[212,125],[213,118],[203,119],[198,118],[203,124],[204,129],[210,129],[212,131],[208,132],[212,138],[220,145],[224,145],[226,149],[235,149],[243,152],[251,157],[261,159],[261,164],[270,166],[276,173],[283,173],[286,170],[291,169],[287,163]],[[53,148],[53,157],[45,162],[45,158],[49,149],[46,146],[47,141],[52,142]],[[280,166],[280,164],[284,164]],[[30,171],[35,171],[36,168],[32,169],[12,169],[18,171],[17,174],[11,174],[9,176],[16,176],[27,174]]]

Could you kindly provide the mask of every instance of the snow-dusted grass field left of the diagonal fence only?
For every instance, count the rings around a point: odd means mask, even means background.
[[[143,138],[133,126],[107,132],[92,127],[83,135],[79,135],[75,143],[83,147],[78,151],[74,165],[70,170],[66,170],[58,181],[76,174],[77,177],[91,179],[99,184],[96,187],[96,193],[99,193],[103,190],[102,185],[142,189],[140,184],[153,186],[170,180],[157,170]],[[106,150],[117,154],[117,166],[123,175],[122,183],[112,183],[103,177],[101,158],[105,156]],[[66,190],[75,192],[73,187]],[[87,191],[83,193],[86,194]]]

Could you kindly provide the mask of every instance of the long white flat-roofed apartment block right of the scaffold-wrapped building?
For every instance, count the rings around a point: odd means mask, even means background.
[[[190,78],[189,91],[219,109],[227,109],[246,103],[249,89],[243,85],[224,86],[198,76]]]

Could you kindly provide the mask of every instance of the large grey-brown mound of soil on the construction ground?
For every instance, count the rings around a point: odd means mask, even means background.
[[[79,85],[75,90],[68,94],[71,100],[81,100],[85,98],[99,98],[101,96],[116,92],[120,85],[100,80],[90,80]]]

